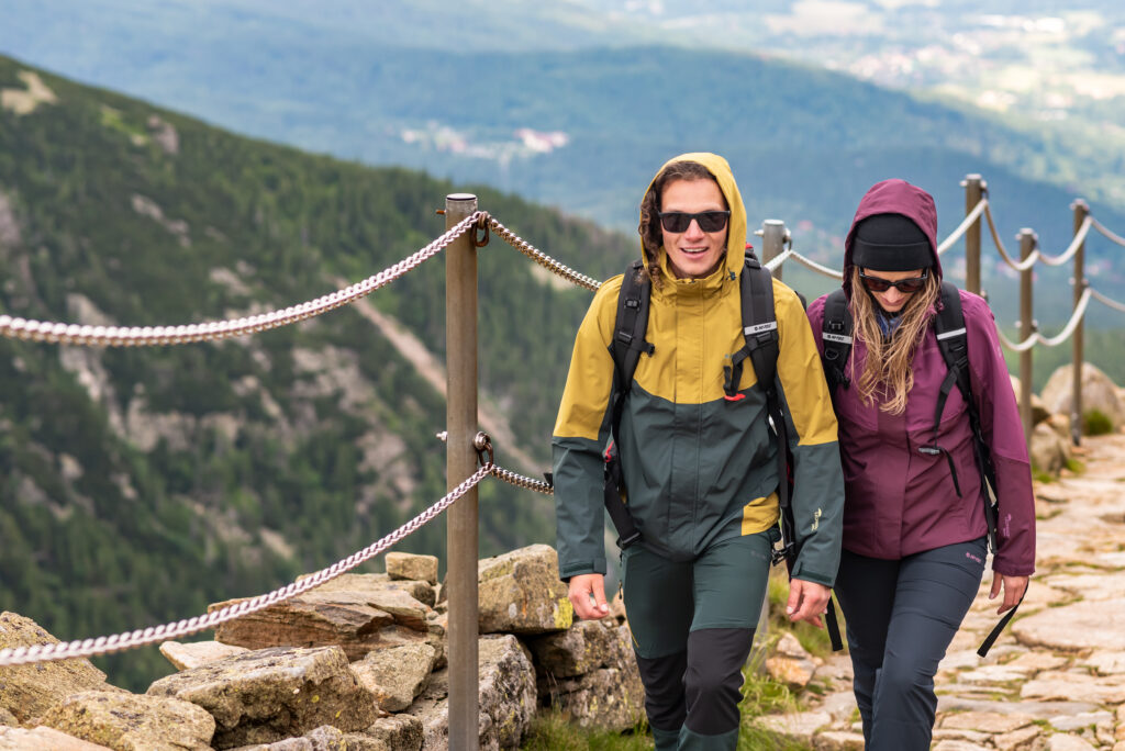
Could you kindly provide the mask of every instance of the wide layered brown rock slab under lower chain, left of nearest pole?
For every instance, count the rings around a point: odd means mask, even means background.
[[[426,641],[430,606],[384,577],[340,577],[298,597],[228,621],[216,628],[224,644],[252,650],[336,644],[349,660],[371,650]],[[208,613],[240,603],[216,603]]]

